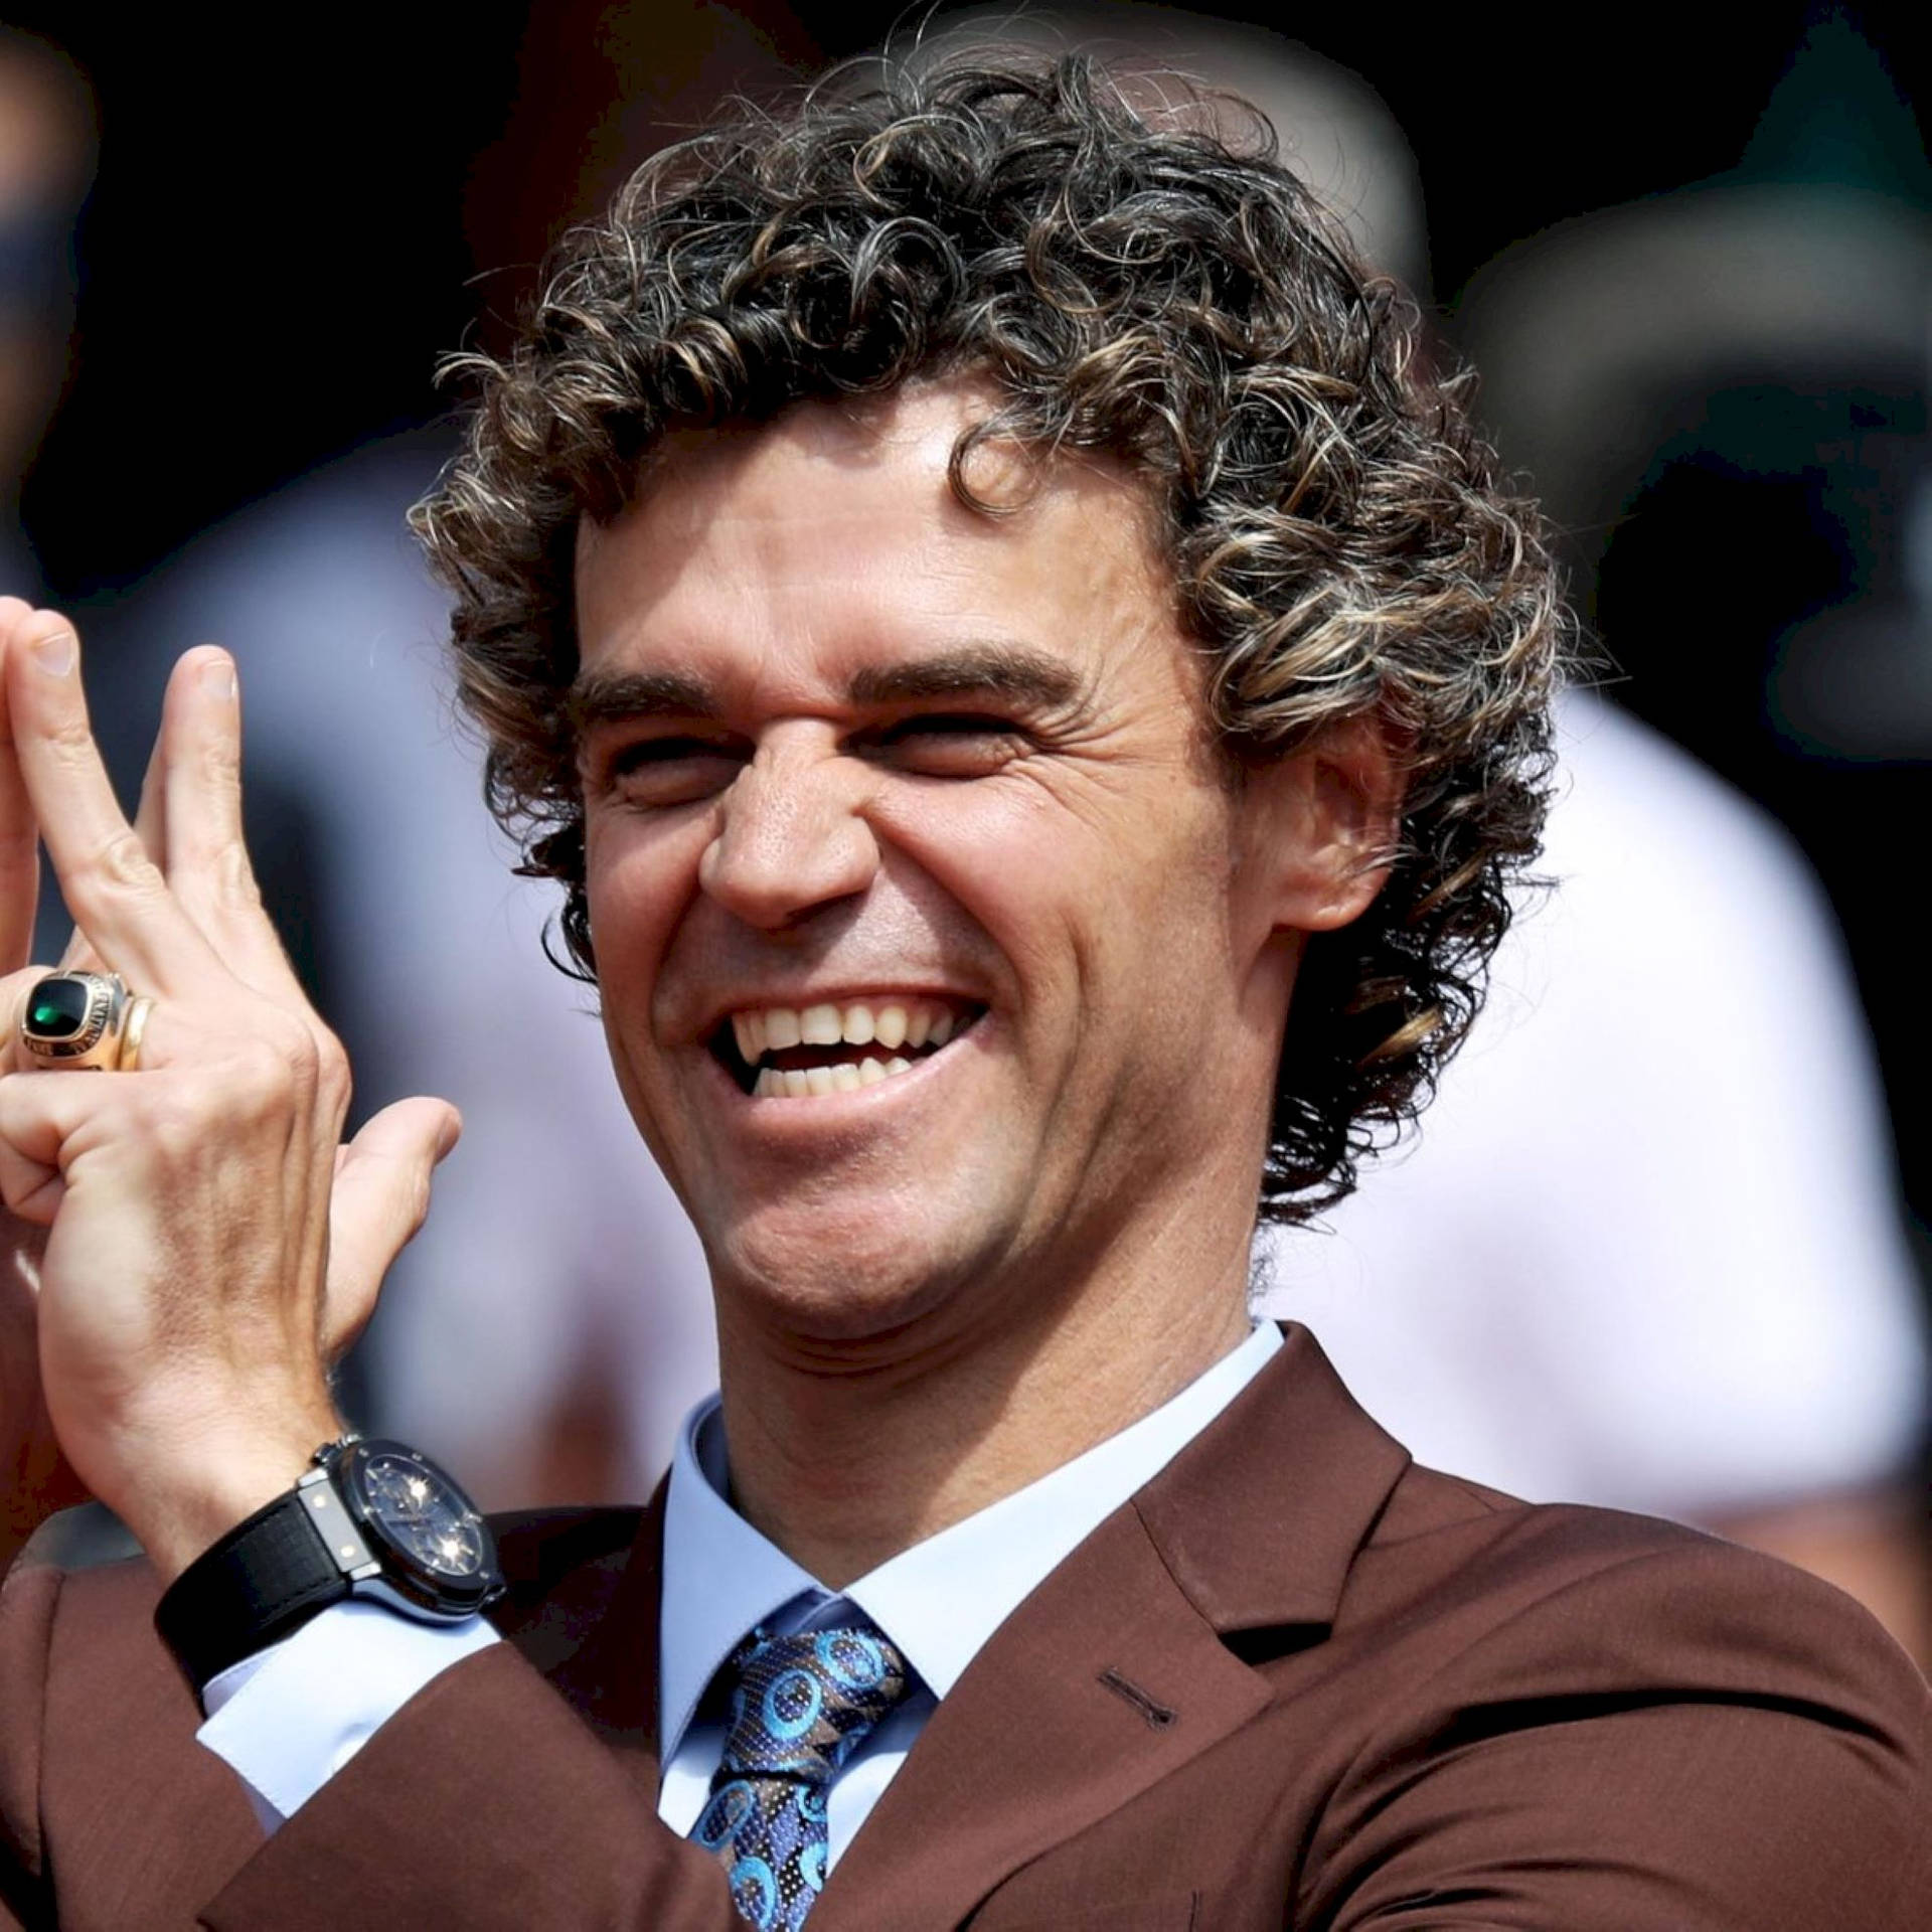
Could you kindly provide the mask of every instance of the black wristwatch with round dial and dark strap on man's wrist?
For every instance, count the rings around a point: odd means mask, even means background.
[[[444,1470],[406,1443],[346,1435],[168,1584],[155,1629],[201,1696],[330,1604],[462,1623],[502,1588],[497,1540]]]

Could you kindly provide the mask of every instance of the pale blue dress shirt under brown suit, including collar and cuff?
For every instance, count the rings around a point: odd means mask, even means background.
[[[827,1795],[827,1868],[904,1764],[939,1698],[1020,1602],[1151,1482],[1281,1347],[1262,1323],[1140,1422],[833,1594],[732,1509],[717,1397],[678,1435],[665,1497],[657,1812],[690,1833],[724,1754],[705,1689],[755,1627],[790,1634],[869,1617],[898,1646],[912,1694],[846,1760]],[[498,1642],[481,1617],[412,1623],[338,1604],[209,1685],[201,1743],[247,1785],[267,1830],[313,1797],[433,1677]]]

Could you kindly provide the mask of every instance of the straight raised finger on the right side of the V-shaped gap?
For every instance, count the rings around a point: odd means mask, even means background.
[[[226,651],[207,645],[174,667],[156,759],[162,864],[176,902],[249,985],[303,1001],[247,856],[242,707]]]

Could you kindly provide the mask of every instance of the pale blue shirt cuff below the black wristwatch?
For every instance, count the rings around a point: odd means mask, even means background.
[[[336,1604],[214,1677],[195,1735],[274,1832],[431,1679],[497,1642],[483,1617],[417,1623],[381,1604]]]

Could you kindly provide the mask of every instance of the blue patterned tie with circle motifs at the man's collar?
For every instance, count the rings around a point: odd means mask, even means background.
[[[724,1758],[692,1837],[730,1874],[740,1918],[798,1932],[825,1884],[825,1791],[906,1694],[906,1662],[860,1623],[753,1631],[732,1667]]]

